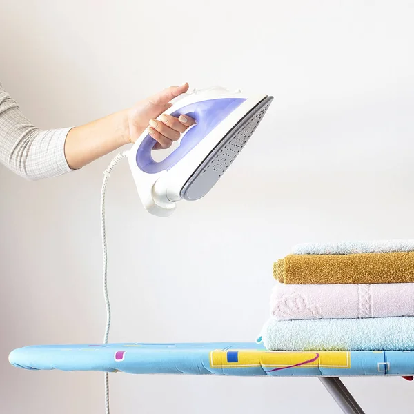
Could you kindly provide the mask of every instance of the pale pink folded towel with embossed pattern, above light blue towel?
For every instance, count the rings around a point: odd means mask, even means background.
[[[270,298],[278,320],[414,316],[414,283],[282,284]]]

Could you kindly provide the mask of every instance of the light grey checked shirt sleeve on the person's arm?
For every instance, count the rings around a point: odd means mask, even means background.
[[[64,152],[70,129],[39,130],[0,83],[0,163],[13,172],[32,180],[70,172]]]

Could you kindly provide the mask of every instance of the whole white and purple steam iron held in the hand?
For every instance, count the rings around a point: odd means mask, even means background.
[[[177,201],[195,201],[213,188],[251,137],[273,97],[246,97],[226,88],[180,95],[166,114],[188,115],[197,124],[162,161],[151,156],[155,139],[145,130],[128,153],[139,197],[146,210],[171,215]]]

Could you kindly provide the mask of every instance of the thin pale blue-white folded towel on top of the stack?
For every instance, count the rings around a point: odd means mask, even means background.
[[[352,255],[355,253],[414,252],[414,240],[373,240],[361,242],[303,243],[294,255]]]

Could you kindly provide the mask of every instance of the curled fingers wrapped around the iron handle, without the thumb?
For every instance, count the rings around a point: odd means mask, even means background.
[[[181,137],[181,133],[185,132],[189,126],[195,124],[195,120],[188,115],[181,115],[179,118],[171,115],[161,115],[159,120],[151,119],[148,133],[157,141],[155,149],[170,148],[172,142],[177,141]]]

